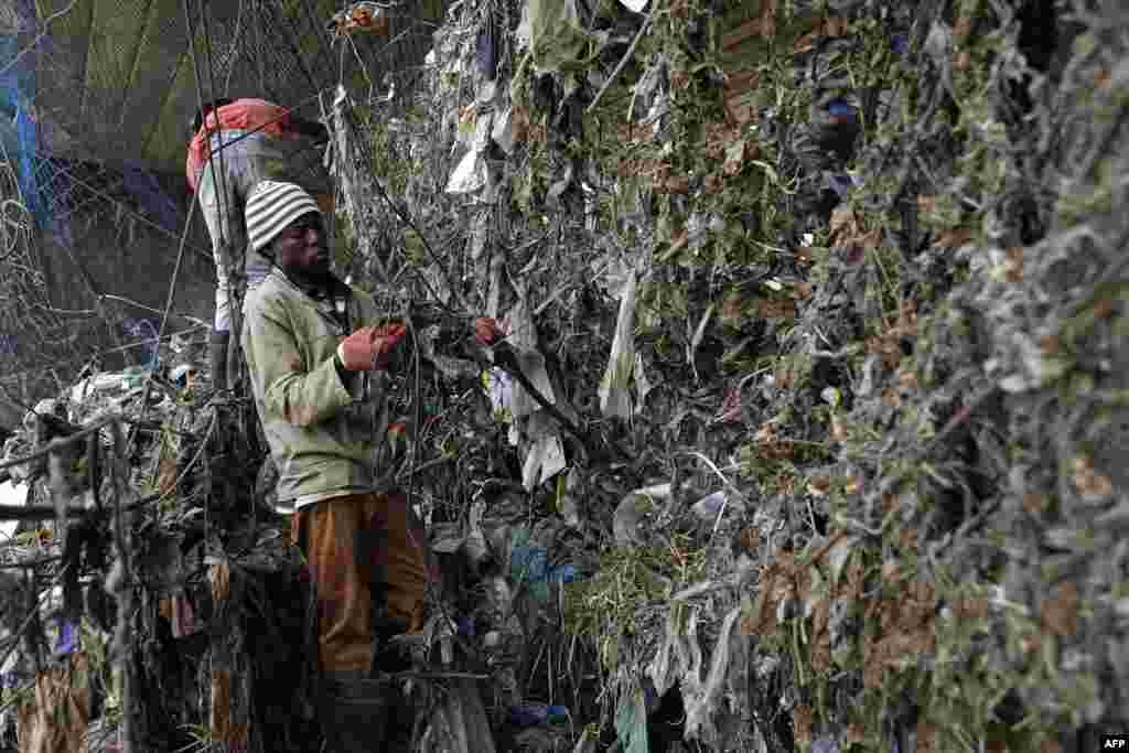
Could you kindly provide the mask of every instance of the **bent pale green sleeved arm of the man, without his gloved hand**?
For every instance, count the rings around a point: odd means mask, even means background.
[[[296,426],[313,426],[352,402],[338,374],[335,353],[318,364],[303,362],[285,312],[248,312],[246,326],[247,366],[268,413]]]

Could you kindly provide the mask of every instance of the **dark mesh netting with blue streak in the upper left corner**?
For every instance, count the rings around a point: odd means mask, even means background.
[[[400,94],[410,90],[443,0],[405,5],[383,36],[333,42],[327,23],[342,7],[334,0],[0,3],[0,385],[51,370],[65,380],[99,349],[139,338],[128,312],[96,300],[53,308],[37,246],[50,234],[65,252],[61,259],[75,260],[62,274],[85,274],[84,254],[107,251],[85,248],[87,230],[113,219],[119,227],[164,229],[172,255],[186,208],[155,173],[183,175],[200,98],[263,97],[316,119],[318,95],[329,104],[342,77],[371,90],[396,79]],[[126,244],[132,231],[119,237]]]

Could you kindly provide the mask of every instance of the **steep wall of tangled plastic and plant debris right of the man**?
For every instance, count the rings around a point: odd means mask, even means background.
[[[632,751],[667,692],[718,750],[1124,724],[1123,11],[625,6],[462,6],[369,121],[434,248],[388,212],[368,254],[508,317],[570,424],[501,417],[577,539],[545,545],[604,720]]]

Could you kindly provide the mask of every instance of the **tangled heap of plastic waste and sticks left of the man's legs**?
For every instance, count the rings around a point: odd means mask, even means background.
[[[19,520],[0,559],[30,580],[5,573],[0,588],[0,621],[18,639],[0,667],[14,701],[0,732],[21,753],[120,751],[126,738],[174,750],[190,728],[233,746],[301,750],[279,736],[310,723],[298,697],[252,680],[266,671],[291,672],[291,690],[304,682],[298,564],[253,497],[237,403],[213,400],[204,336],[163,344],[159,371],[88,369],[5,443],[18,504],[0,515]],[[248,592],[265,610],[259,623]],[[248,637],[263,630],[292,656],[279,664],[256,649]]]

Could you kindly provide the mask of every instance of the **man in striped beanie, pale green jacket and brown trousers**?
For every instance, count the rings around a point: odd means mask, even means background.
[[[334,277],[322,214],[300,186],[257,184],[245,219],[250,248],[272,268],[247,295],[243,351],[278,510],[292,516],[317,589],[323,726],[331,751],[386,750],[391,697],[370,678],[374,638],[422,627],[428,578],[423,529],[373,459],[374,443],[387,441],[386,369],[405,329],[377,326],[373,298]]]

